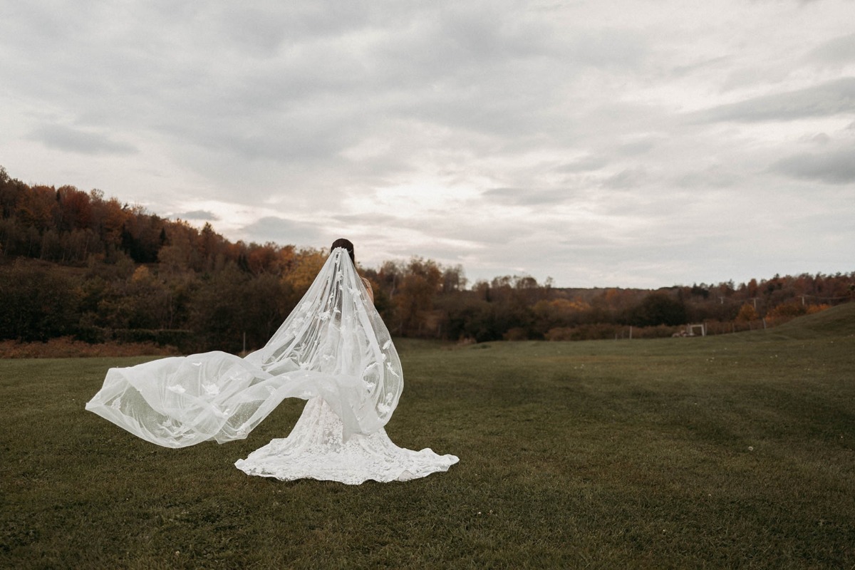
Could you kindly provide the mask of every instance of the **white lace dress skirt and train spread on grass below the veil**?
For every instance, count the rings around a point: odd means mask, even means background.
[[[312,398],[287,438],[274,439],[235,466],[250,475],[280,480],[321,479],[359,485],[408,481],[447,471],[454,455],[437,455],[430,448],[404,450],[386,430],[342,438],[342,421],[320,397]]]

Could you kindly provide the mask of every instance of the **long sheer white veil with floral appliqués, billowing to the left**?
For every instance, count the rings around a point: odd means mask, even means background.
[[[401,362],[347,251],[336,248],[261,350],[110,368],[86,409],[164,447],[245,438],[286,397],[322,397],[343,434],[374,433],[404,387]]]

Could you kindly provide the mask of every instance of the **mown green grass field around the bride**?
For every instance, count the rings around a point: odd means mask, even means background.
[[[387,432],[459,455],[360,486],[167,450],[85,401],[141,358],[0,361],[0,567],[855,567],[855,303],[766,332],[398,344]]]

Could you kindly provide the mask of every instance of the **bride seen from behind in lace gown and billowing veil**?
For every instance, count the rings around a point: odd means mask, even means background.
[[[213,351],[110,368],[86,409],[165,447],[245,438],[286,397],[308,400],[287,438],[235,465],[276,479],[358,485],[446,471],[457,457],[404,450],[383,426],[404,387],[398,352],[357,274],[353,244],[333,242],[315,282],[261,350]]]

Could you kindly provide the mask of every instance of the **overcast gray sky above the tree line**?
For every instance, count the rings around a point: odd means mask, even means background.
[[[848,273],[853,22],[853,0],[0,0],[0,165],[470,281]]]

